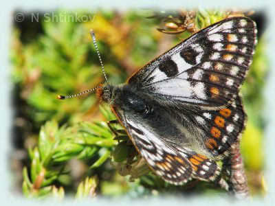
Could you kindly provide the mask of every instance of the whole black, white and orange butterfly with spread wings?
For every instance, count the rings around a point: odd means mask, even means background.
[[[239,89],[252,63],[256,33],[247,17],[224,19],[155,58],[126,83],[96,88],[164,181],[181,185],[219,175],[217,161],[245,128]]]

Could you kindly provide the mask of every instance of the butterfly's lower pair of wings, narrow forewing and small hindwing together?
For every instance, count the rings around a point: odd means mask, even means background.
[[[181,185],[192,177],[209,181],[219,174],[219,167],[214,161],[157,137],[152,128],[135,119],[123,119],[122,122],[140,155],[168,183]]]

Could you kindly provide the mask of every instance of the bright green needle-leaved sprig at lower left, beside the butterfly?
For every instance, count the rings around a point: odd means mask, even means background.
[[[64,196],[62,187],[54,183],[69,171],[67,161],[96,157],[90,168],[98,168],[109,158],[115,146],[113,135],[105,122],[83,122],[73,127],[58,128],[56,122],[47,122],[39,133],[38,146],[29,149],[30,174],[23,170],[23,192],[26,196]]]

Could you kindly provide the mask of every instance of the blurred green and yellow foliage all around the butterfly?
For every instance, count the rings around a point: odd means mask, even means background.
[[[114,135],[106,124],[106,120],[115,119],[109,108],[99,106],[94,93],[65,101],[56,100],[56,95],[78,93],[104,82],[89,36],[91,28],[96,33],[109,81],[118,84],[192,32],[226,16],[245,14],[256,20],[260,36],[252,67],[241,89],[248,113],[241,153],[250,192],[254,196],[265,195],[262,92],[269,65],[262,14],[202,9],[190,12],[56,10],[23,14],[22,22],[14,22],[10,49],[13,190],[28,197],[57,199],[65,194],[85,198],[159,196],[167,192],[181,196],[224,193],[199,181],[182,187],[169,185],[148,173],[144,163],[136,162],[137,165],[127,168],[123,161],[133,150],[126,144],[120,144],[120,150],[117,149],[118,141],[113,141]],[[184,14],[191,16],[191,21],[186,21],[188,25],[179,19]]]

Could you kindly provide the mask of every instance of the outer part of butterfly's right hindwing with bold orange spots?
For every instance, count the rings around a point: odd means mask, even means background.
[[[239,96],[227,106],[215,111],[204,110],[195,115],[199,128],[203,130],[204,145],[214,156],[221,157],[239,141],[245,128],[246,114]]]

